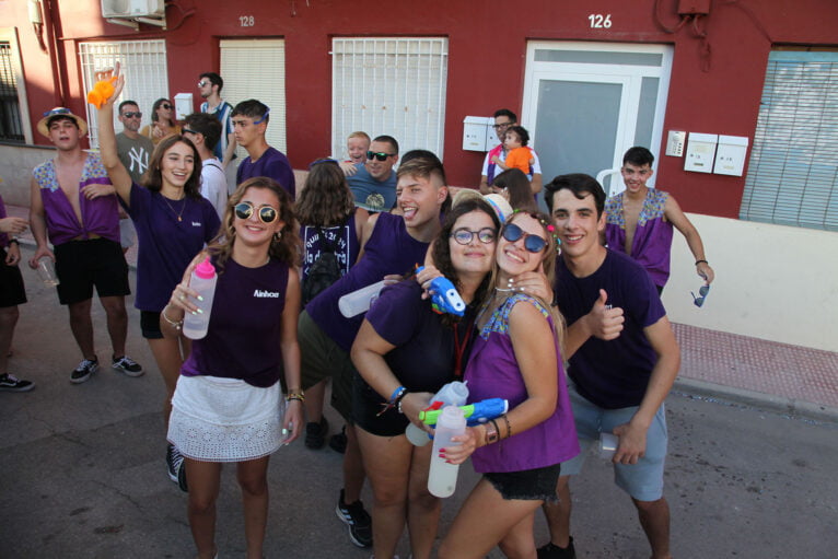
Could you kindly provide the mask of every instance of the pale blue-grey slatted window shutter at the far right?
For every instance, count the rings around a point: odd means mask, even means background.
[[[838,53],[770,54],[740,218],[838,231]]]

